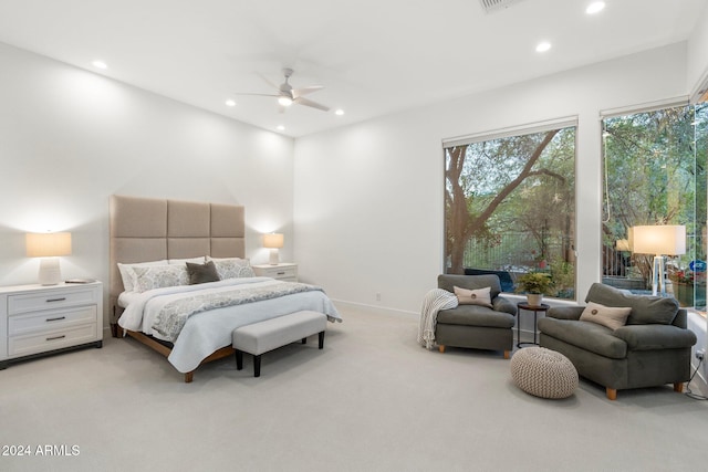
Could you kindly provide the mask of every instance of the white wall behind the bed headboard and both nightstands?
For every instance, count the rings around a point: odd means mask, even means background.
[[[3,44],[0,64],[0,285],[37,282],[27,231],[67,230],[64,277],[107,286],[113,193],[244,204],[252,261],[273,230],[292,259],[292,139]]]

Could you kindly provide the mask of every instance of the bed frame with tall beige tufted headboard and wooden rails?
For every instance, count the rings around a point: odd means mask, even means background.
[[[123,313],[118,295],[123,280],[118,262],[147,262],[164,259],[244,258],[246,223],[241,206],[162,200],[139,197],[111,197],[111,332],[139,340],[165,357],[171,345],[139,332],[123,329],[117,321]],[[233,355],[230,346],[216,350],[201,364]],[[194,370],[185,381],[194,380]]]

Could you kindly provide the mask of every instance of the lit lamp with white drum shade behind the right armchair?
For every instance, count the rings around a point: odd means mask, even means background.
[[[632,249],[638,254],[654,254],[652,294],[666,291],[664,255],[686,253],[686,227],[679,224],[633,227]]]

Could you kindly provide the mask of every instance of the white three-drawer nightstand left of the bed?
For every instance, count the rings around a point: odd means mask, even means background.
[[[103,346],[101,282],[0,287],[0,369],[11,360]]]

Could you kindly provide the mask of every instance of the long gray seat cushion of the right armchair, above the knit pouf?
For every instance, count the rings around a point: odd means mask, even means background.
[[[544,317],[539,319],[539,329],[544,335],[601,356],[613,359],[627,356],[627,344],[613,336],[612,329],[596,323]]]

